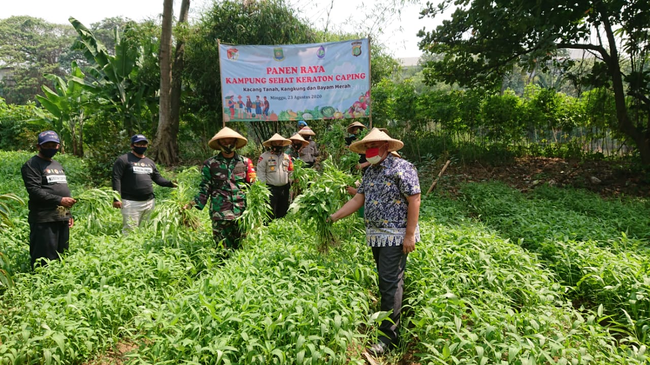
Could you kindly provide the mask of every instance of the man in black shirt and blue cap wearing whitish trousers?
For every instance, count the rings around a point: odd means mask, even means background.
[[[123,234],[128,234],[151,215],[155,206],[151,181],[167,188],[176,187],[161,176],[152,160],[144,157],[148,144],[145,136],[135,134],[131,137],[131,152],[118,157],[113,164],[113,190],[122,197],[122,201],[113,201],[113,207],[122,208]]]

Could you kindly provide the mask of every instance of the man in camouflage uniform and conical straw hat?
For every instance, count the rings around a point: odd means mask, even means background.
[[[214,242],[228,249],[239,248],[242,233],[236,220],[246,209],[242,189],[255,181],[252,160],[235,152],[246,143],[244,136],[228,127],[214,134],[208,145],[219,153],[203,162],[199,192],[190,203],[203,210],[209,200]]]

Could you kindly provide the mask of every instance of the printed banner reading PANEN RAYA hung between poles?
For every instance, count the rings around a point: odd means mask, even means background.
[[[225,121],[370,115],[370,43],[219,45]]]

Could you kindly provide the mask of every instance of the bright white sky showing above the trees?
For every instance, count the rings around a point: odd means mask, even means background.
[[[211,0],[190,1],[190,18],[198,14],[200,8]],[[365,14],[372,14],[375,10],[376,0],[288,0],[294,4],[300,15],[309,18],[316,27],[326,23],[327,10],[330,12],[330,29],[354,31],[362,29],[365,24]],[[332,3],[330,2],[333,2]],[[426,0],[417,0],[426,4]],[[107,3],[88,0],[3,0],[0,2],[0,18],[10,16],[28,15],[43,18],[51,23],[69,24],[68,18],[73,16],[81,23],[89,26],[104,18],[123,16],[140,21],[146,18],[155,18],[162,12],[163,0],[110,0]],[[174,1],[174,14],[178,16],[179,0]],[[418,19],[421,6],[408,5],[402,8],[399,18],[393,17],[389,24],[383,24],[383,35],[378,41],[387,45],[395,57],[418,57],[421,55],[417,47],[419,38],[415,35],[419,29],[426,25],[432,29],[432,19]]]

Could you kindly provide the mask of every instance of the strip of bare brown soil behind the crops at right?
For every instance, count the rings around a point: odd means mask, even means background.
[[[441,170],[438,166],[433,176]],[[512,164],[485,166],[478,162],[452,163],[435,189],[455,192],[458,183],[499,180],[526,192],[539,184],[573,186],[597,192],[603,197],[650,196],[650,173],[627,162],[569,161],[562,158],[522,157]],[[428,189],[432,179],[424,179],[422,190]]]

